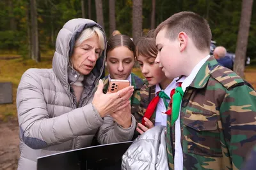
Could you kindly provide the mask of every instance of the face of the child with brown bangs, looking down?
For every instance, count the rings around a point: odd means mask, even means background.
[[[156,85],[166,79],[159,64],[155,63],[155,59],[155,57],[144,57],[142,55],[139,55],[137,59],[140,64],[141,72],[150,85]]]

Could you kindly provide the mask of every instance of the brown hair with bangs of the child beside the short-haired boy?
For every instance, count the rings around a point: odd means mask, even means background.
[[[136,43],[136,57],[139,55],[143,57],[157,56],[156,39],[154,37],[154,30],[150,30],[145,37],[140,37]]]

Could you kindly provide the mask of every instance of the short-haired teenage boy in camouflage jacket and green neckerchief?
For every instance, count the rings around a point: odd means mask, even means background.
[[[155,35],[166,77],[186,76],[168,127],[170,169],[241,169],[256,144],[256,92],[209,55],[211,29],[199,15],[176,13]]]

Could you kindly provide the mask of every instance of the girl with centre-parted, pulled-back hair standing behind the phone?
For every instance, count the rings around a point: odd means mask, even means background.
[[[135,62],[135,45],[126,35],[115,35],[108,40],[107,66],[109,75],[103,79],[104,93],[108,90],[109,81],[112,79],[129,80],[134,86],[131,97],[131,113],[134,115],[140,105],[140,88],[144,81],[131,73]],[[136,110],[137,109],[137,110]]]

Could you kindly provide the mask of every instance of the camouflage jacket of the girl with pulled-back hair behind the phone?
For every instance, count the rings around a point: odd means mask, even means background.
[[[138,107],[140,105],[140,89],[145,82],[133,73],[131,73],[131,79],[132,79],[131,85],[134,86],[134,92],[131,97],[131,113],[132,115],[134,115],[134,113],[138,111]],[[103,92],[106,94],[106,92],[108,91],[108,85],[109,85],[108,76],[104,77],[102,81],[104,83]]]

